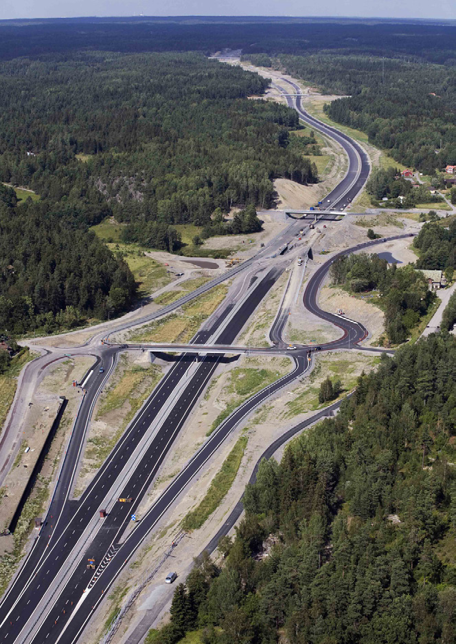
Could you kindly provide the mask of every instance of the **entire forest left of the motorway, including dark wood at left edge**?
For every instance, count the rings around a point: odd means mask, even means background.
[[[89,227],[114,215],[124,241],[179,250],[171,224],[255,232],[276,176],[315,182],[289,145],[292,109],[249,100],[268,81],[202,54],[100,52],[0,63],[0,325],[52,332],[130,307],[126,264]],[[234,204],[248,208],[231,221]],[[214,220],[212,219],[214,215]]]

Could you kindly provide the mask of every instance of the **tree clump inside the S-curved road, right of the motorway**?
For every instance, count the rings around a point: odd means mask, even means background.
[[[385,331],[392,344],[407,339],[435,300],[422,273],[412,266],[389,266],[378,255],[340,257],[332,264],[330,277],[334,285],[345,286],[354,293],[378,290],[376,304],[385,312]]]

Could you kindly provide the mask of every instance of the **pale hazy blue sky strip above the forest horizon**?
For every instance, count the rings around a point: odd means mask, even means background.
[[[454,19],[456,0],[0,0],[0,19],[78,16],[340,16]]]

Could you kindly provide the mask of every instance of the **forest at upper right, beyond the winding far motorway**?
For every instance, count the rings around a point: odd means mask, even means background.
[[[376,56],[280,55],[289,74],[329,94],[332,120],[364,131],[404,165],[426,173],[456,164],[456,69]]]

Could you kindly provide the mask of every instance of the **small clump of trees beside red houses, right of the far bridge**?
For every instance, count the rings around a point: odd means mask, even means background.
[[[387,197],[387,205],[394,208],[414,208],[417,204],[438,204],[444,201],[440,195],[431,195],[424,186],[414,188],[410,181],[400,176],[397,168],[391,167],[375,168],[366,182],[366,190],[376,202]],[[399,199],[400,196],[404,199]]]

